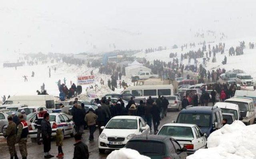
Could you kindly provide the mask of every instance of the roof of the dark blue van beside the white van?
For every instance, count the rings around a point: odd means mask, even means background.
[[[212,106],[192,106],[187,107],[185,109],[182,109],[180,111],[181,113],[200,113],[200,114],[212,114],[212,111],[218,107],[212,107]]]

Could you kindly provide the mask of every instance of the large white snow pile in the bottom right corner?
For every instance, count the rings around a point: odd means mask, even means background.
[[[209,136],[208,149],[199,149],[187,159],[256,159],[255,143],[256,125],[235,121]]]

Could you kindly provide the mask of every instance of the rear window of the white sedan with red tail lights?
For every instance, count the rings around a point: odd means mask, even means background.
[[[192,129],[184,126],[163,126],[158,135],[194,138]]]

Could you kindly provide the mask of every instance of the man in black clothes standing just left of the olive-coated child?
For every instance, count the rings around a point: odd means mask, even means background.
[[[50,154],[52,126],[49,120],[50,120],[50,114],[45,113],[44,119],[41,122],[42,138],[44,143],[44,158],[54,157],[53,155]]]

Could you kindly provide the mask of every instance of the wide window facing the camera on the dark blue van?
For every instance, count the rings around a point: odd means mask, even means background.
[[[199,127],[209,127],[210,114],[182,113],[178,116],[177,123],[195,124]]]

